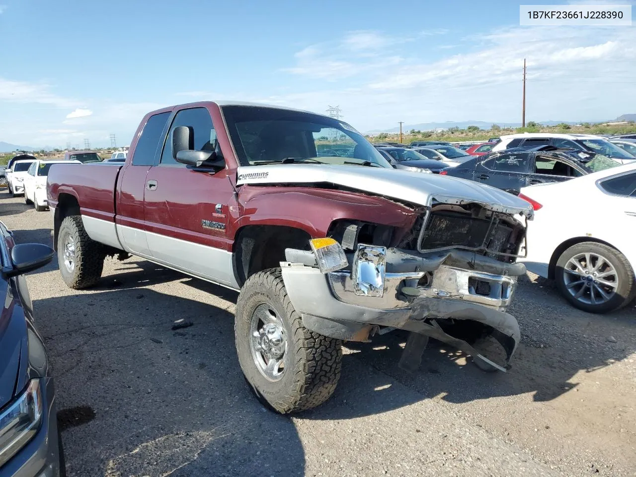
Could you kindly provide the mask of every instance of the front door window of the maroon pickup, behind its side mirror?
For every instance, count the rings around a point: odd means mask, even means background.
[[[190,134],[194,134],[194,145],[196,151],[212,151],[214,147],[214,126],[212,118],[205,107],[193,107],[191,109],[182,109],[174,116],[170,131],[168,132],[167,141],[163,145],[163,153],[159,165],[180,165],[172,157],[172,131],[178,126],[186,126],[190,128]]]

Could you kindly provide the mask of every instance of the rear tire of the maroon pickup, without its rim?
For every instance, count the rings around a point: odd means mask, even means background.
[[[64,265],[64,250],[66,237],[73,235],[75,241],[75,266],[73,272]],[[102,244],[95,242],[84,230],[81,216],[68,216],[62,221],[58,232],[57,260],[60,275],[66,286],[76,290],[88,288],[99,282],[104,268],[104,249]]]

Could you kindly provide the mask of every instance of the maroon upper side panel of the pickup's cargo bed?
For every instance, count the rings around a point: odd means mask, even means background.
[[[114,221],[115,186],[123,164],[55,164],[46,181],[48,205],[57,207],[64,194],[76,198],[81,214]]]

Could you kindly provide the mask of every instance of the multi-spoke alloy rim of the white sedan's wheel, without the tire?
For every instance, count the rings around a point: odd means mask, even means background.
[[[597,253],[579,253],[563,267],[565,289],[586,305],[602,305],[614,298],[619,281],[616,268]]]

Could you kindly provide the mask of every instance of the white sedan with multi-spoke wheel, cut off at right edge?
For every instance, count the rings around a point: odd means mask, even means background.
[[[524,187],[535,210],[527,230],[530,272],[556,280],[575,307],[604,313],[636,297],[636,165]]]

